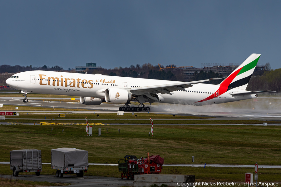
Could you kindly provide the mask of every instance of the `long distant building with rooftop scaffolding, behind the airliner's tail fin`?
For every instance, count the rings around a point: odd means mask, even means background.
[[[199,73],[201,70],[204,72],[209,72],[212,70],[214,73],[222,74],[224,77],[227,77],[231,74],[240,64],[201,64],[201,68],[188,68],[183,69],[182,73],[184,74],[185,80],[193,79],[195,71]],[[264,71],[265,64],[257,64],[254,72]]]

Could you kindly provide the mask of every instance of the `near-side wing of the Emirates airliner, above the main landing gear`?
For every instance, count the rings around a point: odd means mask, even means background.
[[[161,84],[161,85],[155,85],[155,86],[142,86],[139,88],[130,88],[130,92],[136,96],[144,95],[148,98],[158,100],[155,97],[152,97],[151,95],[155,95],[155,93],[161,93],[161,94],[170,94],[173,91],[176,90],[183,90],[185,91],[185,88],[189,88],[192,86],[192,84],[198,84],[203,82],[208,82],[211,80],[217,80],[217,79],[205,79],[205,80],[199,80],[199,81],[191,81],[191,82],[177,82],[174,84]],[[151,97],[150,97],[151,96]]]

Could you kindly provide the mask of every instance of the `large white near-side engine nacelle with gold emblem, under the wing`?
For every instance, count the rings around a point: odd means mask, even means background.
[[[105,100],[107,103],[122,104],[131,101],[132,94],[125,89],[108,88],[105,91]]]

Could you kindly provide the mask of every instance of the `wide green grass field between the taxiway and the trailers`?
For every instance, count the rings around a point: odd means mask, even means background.
[[[280,126],[155,126],[154,137],[148,132],[150,126],[95,125],[93,136],[86,137],[85,125],[1,125],[0,161],[8,162],[11,150],[40,149],[42,162],[51,162],[51,149],[72,147],[89,151],[89,163],[117,163],[147,152],[159,154],[165,164],[188,164],[191,156],[196,163],[281,163]]]

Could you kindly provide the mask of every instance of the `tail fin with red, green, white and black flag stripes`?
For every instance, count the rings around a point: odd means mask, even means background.
[[[227,90],[239,88],[245,90],[259,61],[260,54],[252,54],[236,68],[220,86],[228,87]]]

